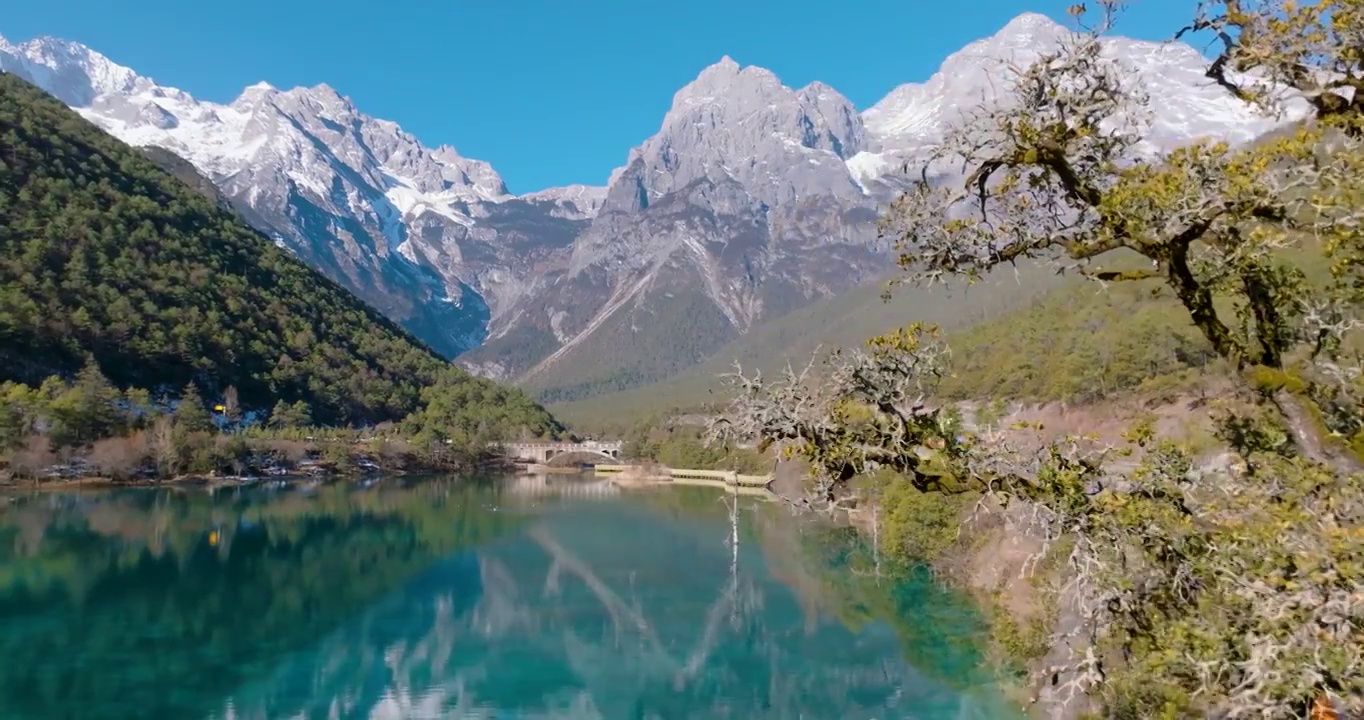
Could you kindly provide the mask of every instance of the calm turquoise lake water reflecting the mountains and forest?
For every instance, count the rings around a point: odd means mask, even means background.
[[[1016,717],[848,530],[562,483],[0,496],[0,717]]]

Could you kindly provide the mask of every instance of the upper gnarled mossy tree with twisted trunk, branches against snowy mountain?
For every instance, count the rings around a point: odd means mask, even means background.
[[[1339,334],[1352,327],[1341,307],[1350,297],[1311,290],[1285,251],[1326,237],[1322,247],[1335,262],[1335,289],[1345,289],[1352,273],[1359,286],[1364,206],[1348,183],[1357,177],[1352,170],[1364,153],[1324,123],[1249,147],[1200,142],[1154,153],[1143,140],[1148,116],[1140,75],[1102,42],[1117,4],[1101,7],[1095,27],[1012,68],[1011,101],[973,113],[948,132],[915,185],[885,214],[883,235],[899,252],[907,280],[974,281],[1005,263],[1052,262],[1098,281],[1159,281],[1211,348],[1239,370],[1282,370],[1299,346],[1337,349]],[[1260,12],[1266,27],[1289,33],[1271,10]],[[1243,15],[1232,18],[1248,23]],[[1218,25],[1204,19],[1200,27]],[[1230,72],[1252,67],[1258,50],[1229,42],[1229,53],[1245,55],[1210,64],[1210,75],[1224,85],[1240,82],[1237,91],[1267,112],[1301,113],[1311,105],[1323,120],[1353,123],[1327,100],[1314,97],[1304,105],[1303,93],[1267,82],[1277,74],[1252,82]],[[1357,52],[1357,44],[1330,42],[1316,42],[1312,52],[1331,46],[1341,57]],[[1327,139],[1337,145],[1329,157],[1322,153]],[[933,183],[930,169],[938,177],[958,170],[960,181]],[[1133,266],[1133,258],[1148,265]],[[1334,322],[1308,322],[1324,318]],[[1294,420],[1296,439],[1308,454],[1360,466],[1304,420],[1308,410],[1297,397],[1285,391],[1275,400]]]

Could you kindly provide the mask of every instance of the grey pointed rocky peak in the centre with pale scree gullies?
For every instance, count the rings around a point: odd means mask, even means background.
[[[874,147],[833,89],[720,60],[630,151],[544,292],[466,361],[554,398],[627,387],[868,281],[884,270],[876,200],[847,161]],[[510,349],[528,346],[552,350]]]

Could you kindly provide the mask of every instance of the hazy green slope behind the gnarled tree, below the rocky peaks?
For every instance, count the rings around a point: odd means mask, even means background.
[[[1319,252],[1286,255],[1309,278],[1327,269]],[[1123,266],[1125,263],[1116,263]],[[700,409],[722,400],[719,375],[738,359],[747,371],[805,363],[824,348],[855,346],[915,320],[940,325],[952,348],[952,375],[941,391],[953,400],[1095,401],[1129,390],[1184,385],[1215,361],[1184,307],[1155,281],[1106,286],[1057,278],[1038,269],[992,278],[966,293],[859,288],[782,318],[727,345],[712,360],[651,387],[551,405],[589,432],[615,432],[642,417]]]

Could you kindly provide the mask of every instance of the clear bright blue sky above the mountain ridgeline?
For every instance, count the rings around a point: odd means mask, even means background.
[[[602,184],[672,93],[728,55],[859,109],[962,45],[1065,1],[29,0],[0,34],[56,35],[201,100],[326,82],[428,146],[492,162],[513,192]],[[839,10],[835,11],[833,8]],[[1169,38],[1194,1],[1136,0],[1121,34]]]

